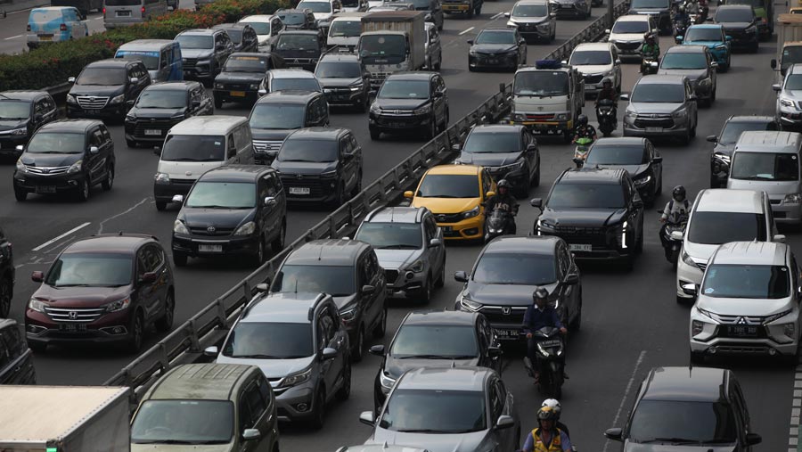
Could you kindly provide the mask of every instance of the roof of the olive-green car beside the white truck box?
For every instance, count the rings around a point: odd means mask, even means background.
[[[241,364],[176,366],[156,382],[145,399],[229,400],[236,397],[234,389],[254,370],[258,367]]]

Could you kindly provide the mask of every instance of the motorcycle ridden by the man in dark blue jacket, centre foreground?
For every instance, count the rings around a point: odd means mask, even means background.
[[[562,398],[562,383],[565,382],[565,342],[559,328],[544,326],[532,333],[537,342],[537,360],[540,362],[540,379],[537,389],[545,397]],[[535,366],[529,357],[524,357],[524,366],[530,377],[535,378]]]

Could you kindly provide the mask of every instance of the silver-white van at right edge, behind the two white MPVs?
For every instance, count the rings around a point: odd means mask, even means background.
[[[796,132],[744,132],[735,143],[727,188],[762,190],[777,223],[802,223],[802,183]]]

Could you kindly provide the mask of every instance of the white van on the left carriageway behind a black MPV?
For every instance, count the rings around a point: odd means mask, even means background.
[[[253,165],[248,118],[195,116],[168,130],[153,182],[156,209],[164,210],[176,194],[186,196],[203,173],[226,164]]]

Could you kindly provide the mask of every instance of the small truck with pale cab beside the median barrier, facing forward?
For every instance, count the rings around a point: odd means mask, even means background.
[[[511,124],[541,134],[562,134],[569,141],[583,106],[585,82],[576,68],[539,60],[535,67],[515,72]]]

